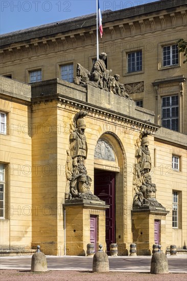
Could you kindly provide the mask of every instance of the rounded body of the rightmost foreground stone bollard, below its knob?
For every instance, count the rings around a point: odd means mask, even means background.
[[[152,255],[150,273],[151,274],[169,273],[168,259],[165,253],[156,252]]]

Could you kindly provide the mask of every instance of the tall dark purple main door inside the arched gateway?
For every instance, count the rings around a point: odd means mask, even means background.
[[[115,243],[115,173],[94,170],[94,194],[109,205],[106,209],[106,245],[107,253],[110,244]]]

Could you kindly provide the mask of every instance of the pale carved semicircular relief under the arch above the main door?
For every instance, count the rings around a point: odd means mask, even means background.
[[[99,139],[95,148],[94,157],[108,161],[115,161],[112,147],[104,139]]]

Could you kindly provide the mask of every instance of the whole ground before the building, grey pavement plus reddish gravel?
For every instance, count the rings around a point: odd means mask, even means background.
[[[92,273],[92,257],[46,256],[48,272],[31,272],[31,256],[0,258],[1,281],[182,281],[187,255],[167,256],[168,274],[150,274],[151,256],[109,256],[110,272]]]

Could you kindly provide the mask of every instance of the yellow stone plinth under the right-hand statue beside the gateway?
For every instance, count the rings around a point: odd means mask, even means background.
[[[166,241],[166,215],[165,208],[135,207],[132,211],[133,243],[136,244],[137,255],[151,255],[154,240],[154,221],[160,221],[159,243],[162,249],[167,247]]]

